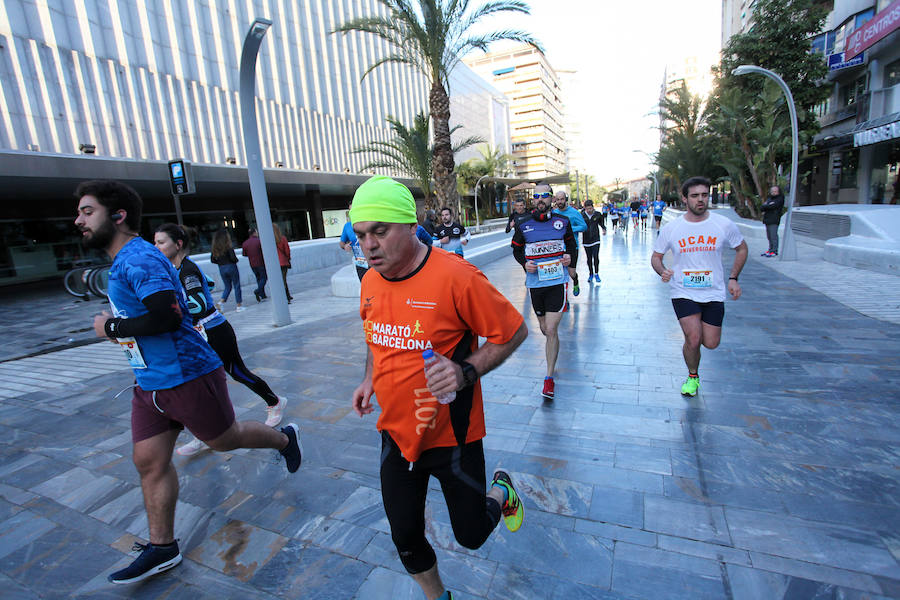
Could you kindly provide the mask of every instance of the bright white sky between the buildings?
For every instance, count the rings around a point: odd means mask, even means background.
[[[490,27],[530,31],[554,69],[579,72],[580,89],[564,101],[582,124],[588,172],[600,184],[647,173],[647,157],[632,150],[658,149],[659,119],[648,113],[666,63],[719,50],[721,0],[526,1],[531,15]]]

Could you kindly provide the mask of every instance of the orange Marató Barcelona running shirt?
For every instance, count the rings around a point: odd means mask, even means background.
[[[449,358],[466,331],[504,344],[524,320],[474,265],[439,248],[429,249],[419,270],[399,281],[369,269],[359,313],[374,359],[378,430],[387,431],[411,462],[429,448],[457,445],[452,403],[440,404],[428,391],[422,351],[433,348]],[[474,337],[472,350],[477,343]],[[466,443],[485,435],[481,383],[474,387]]]

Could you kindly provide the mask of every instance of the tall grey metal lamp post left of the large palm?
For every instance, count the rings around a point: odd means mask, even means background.
[[[262,154],[259,149],[259,129],[256,123],[256,57],[262,39],[272,25],[268,19],[257,18],[250,26],[244,47],[241,50],[240,99],[241,124],[244,134],[244,149],[247,152],[247,175],[250,178],[250,196],[253,198],[253,212],[256,215],[256,229],[262,244],[266,275],[272,292],[272,312],[275,326],[291,322],[287,306],[287,295],[281,279],[278,250],[275,247],[275,233],[272,231],[272,213],[269,211],[269,196],[266,193],[266,178],[262,170]]]

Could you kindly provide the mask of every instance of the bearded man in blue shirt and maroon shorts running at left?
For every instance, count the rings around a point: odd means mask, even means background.
[[[109,270],[113,314],[94,317],[94,333],[118,343],[137,380],[131,400],[133,460],[141,478],[149,543],[129,566],[109,575],[112,583],[134,583],[181,563],[175,540],[178,473],[172,451],[187,427],[214,450],[273,448],[288,471],[302,458],[299,428],[276,431],[262,423],[237,422],[222,361],[191,323],[187,300],[172,263],[138,235],[143,203],[116,181],[78,186],[75,225],[85,246],[102,249]]]

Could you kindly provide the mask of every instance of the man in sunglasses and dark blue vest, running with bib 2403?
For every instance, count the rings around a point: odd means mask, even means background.
[[[550,211],[553,190],[546,183],[534,188],[534,212],[516,223],[512,249],[516,261],[525,269],[525,287],[531,294],[531,308],[541,333],[547,338],[547,375],[541,395],[553,400],[553,371],[559,355],[559,322],[566,309],[569,266],[575,253],[575,234],[565,215]]]

